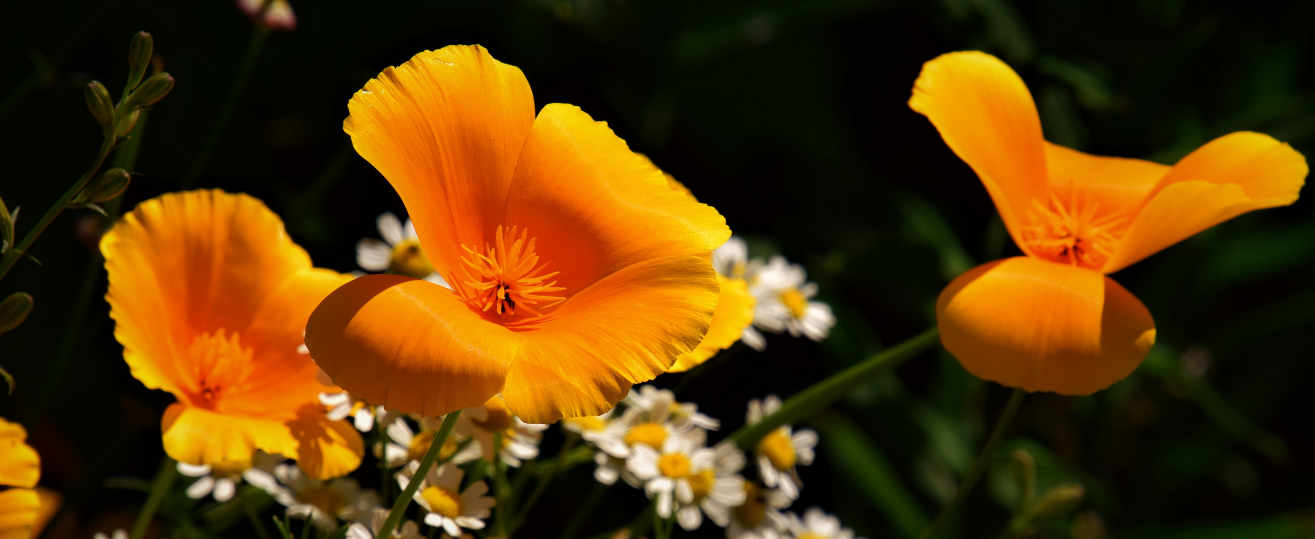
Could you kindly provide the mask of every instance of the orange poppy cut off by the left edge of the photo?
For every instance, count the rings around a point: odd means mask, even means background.
[[[41,479],[41,457],[28,446],[22,425],[0,418],[0,539],[33,536],[41,497],[34,486]]]

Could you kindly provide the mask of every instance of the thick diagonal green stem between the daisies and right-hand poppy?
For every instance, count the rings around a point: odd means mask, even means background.
[[[885,351],[863,360],[853,367],[840,371],[831,377],[813,384],[807,389],[790,397],[781,405],[780,410],[752,425],[746,425],[731,433],[726,439],[735,442],[740,450],[753,447],[757,440],[781,425],[798,423],[813,414],[822,411],[832,402],[844,398],[860,384],[882,376],[896,367],[903,364],[922,354],[936,343],[939,333],[935,327],[918,334],[917,337],[896,344]]]

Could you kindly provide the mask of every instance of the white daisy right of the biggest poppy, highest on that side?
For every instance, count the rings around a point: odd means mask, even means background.
[[[793,337],[822,340],[835,326],[831,306],[810,301],[818,293],[817,283],[807,283],[802,266],[784,256],[772,256],[761,268],[751,270],[750,293],[757,298],[753,325],[772,333],[789,331]]]

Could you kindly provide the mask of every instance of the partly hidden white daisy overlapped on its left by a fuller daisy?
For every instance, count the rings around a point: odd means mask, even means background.
[[[722,442],[713,448],[713,465],[693,469],[689,485],[693,501],[680,501],[676,522],[685,531],[697,530],[707,514],[717,526],[730,525],[731,507],[744,504],[744,477],[738,472],[744,468],[744,452],[731,442]],[[677,496],[679,498],[679,496]]]

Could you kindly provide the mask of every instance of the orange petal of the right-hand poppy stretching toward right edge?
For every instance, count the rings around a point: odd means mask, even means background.
[[[1273,137],[1219,137],[1156,184],[1102,271],[1123,270],[1243,213],[1293,204],[1308,171],[1301,152]]]

